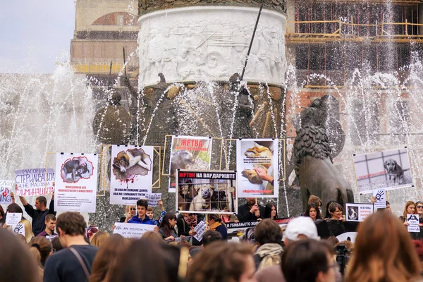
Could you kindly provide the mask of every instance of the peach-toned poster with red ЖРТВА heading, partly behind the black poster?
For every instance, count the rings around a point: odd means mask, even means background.
[[[210,168],[212,141],[211,137],[172,136],[168,192],[176,192],[176,170]]]

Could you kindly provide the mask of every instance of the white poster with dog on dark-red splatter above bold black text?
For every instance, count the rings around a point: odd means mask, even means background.
[[[152,146],[111,147],[110,203],[133,205],[152,192]]]

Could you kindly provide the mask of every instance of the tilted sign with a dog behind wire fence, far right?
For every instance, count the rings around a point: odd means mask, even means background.
[[[413,186],[407,148],[355,154],[354,168],[361,194],[381,188],[393,190]]]

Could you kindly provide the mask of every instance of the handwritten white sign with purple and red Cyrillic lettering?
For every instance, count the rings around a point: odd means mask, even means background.
[[[54,193],[54,169],[29,168],[15,171],[16,196],[41,196]]]

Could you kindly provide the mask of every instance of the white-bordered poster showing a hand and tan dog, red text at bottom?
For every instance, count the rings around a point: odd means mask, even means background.
[[[238,197],[278,197],[278,140],[236,142]]]

